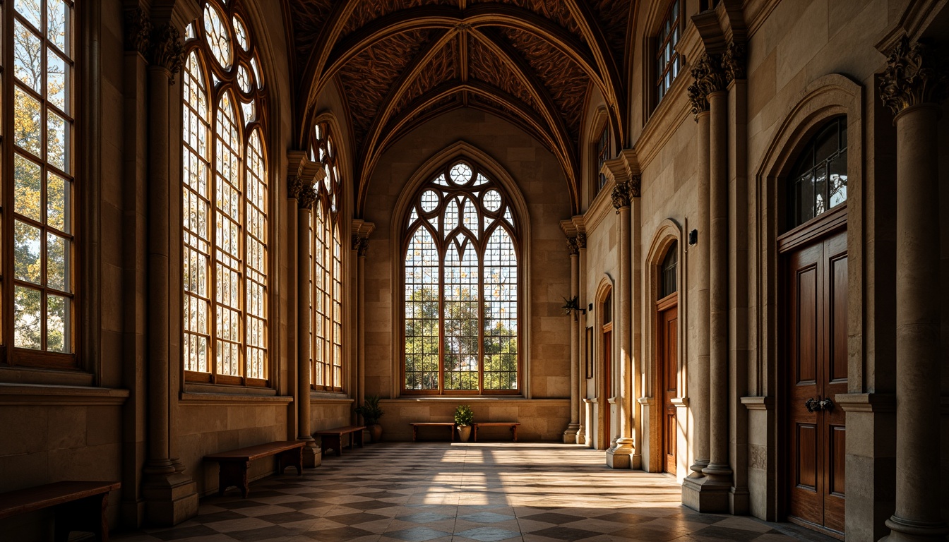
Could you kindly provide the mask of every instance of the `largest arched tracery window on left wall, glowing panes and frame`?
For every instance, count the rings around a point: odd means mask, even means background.
[[[201,6],[182,74],[185,377],[267,385],[266,93],[240,3]]]

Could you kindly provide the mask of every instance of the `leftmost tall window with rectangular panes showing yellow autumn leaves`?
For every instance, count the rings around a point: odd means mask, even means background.
[[[0,231],[12,244],[0,265],[4,364],[78,366],[75,11],[68,0],[16,0],[0,16]]]

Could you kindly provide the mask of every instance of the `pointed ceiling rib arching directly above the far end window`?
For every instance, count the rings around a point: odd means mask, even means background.
[[[497,103],[500,103],[504,107],[508,108],[513,114],[520,117],[522,121],[527,123],[530,127],[530,131],[533,131],[535,134],[540,135],[541,139],[553,150],[554,156],[560,161],[561,166],[564,168],[564,172],[568,174],[568,186],[571,190],[571,197],[576,198],[576,183],[575,178],[578,171],[578,160],[576,159],[576,153],[573,151],[572,147],[566,149],[567,155],[565,156],[564,150],[558,147],[556,144],[556,139],[550,133],[549,126],[547,122],[540,116],[539,113],[528,107],[525,103],[517,99],[517,97],[512,96],[508,92],[504,91],[501,88],[496,86],[481,83],[478,81],[469,81],[467,83],[461,83],[459,81],[449,81],[443,84],[437,85],[435,88],[420,96],[412,104],[401,111],[397,116],[391,119],[388,125],[385,126],[385,129],[382,131],[382,138],[379,140],[375,148],[371,149],[371,155],[365,156],[365,159],[362,161],[363,167],[357,172],[356,177],[359,179],[359,192],[357,194],[356,200],[356,209],[358,213],[363,212],[363,204],[365,202],[366,192],[368,190],[369,178],[372,175],[372,171],[375,169],[376,164],[379,159],[381,159],[382,153],[388,148],[388,146],[395,142],[401,135],[405,133],[403,128],[413,119],[413,117],[419,112],[432,105],[437,103],[439,100],[450,96],[458,92],[470,92],[474,95],[485,96]],[[504,112],[498,112],[502,117],[504,117]]]

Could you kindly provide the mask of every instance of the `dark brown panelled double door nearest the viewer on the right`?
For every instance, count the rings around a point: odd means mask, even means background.
[[[844,532],[847,393],[847,232],[786,261],[788,515]]]

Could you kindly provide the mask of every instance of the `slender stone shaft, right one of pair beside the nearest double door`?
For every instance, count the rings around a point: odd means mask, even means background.
[[[728,460],[728,94],[709,101],[709,477],[730,480]]]

